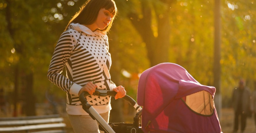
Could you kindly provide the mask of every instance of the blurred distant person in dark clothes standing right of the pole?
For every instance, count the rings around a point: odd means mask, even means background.
[[[250,111],[250,91],[245,86],[244,80],[239,81],[239,86],[234,89],[233,96],[232,96],[232,103],[234,108],[234,130],[233,132],[236,133],[238,131],[239,126],[239,119],[240,119],[240,130],[241,133],[244,132],[246,127],[246,120]]]

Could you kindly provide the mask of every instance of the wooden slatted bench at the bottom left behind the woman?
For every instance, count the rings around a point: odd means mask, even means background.
[[[0,118],[1,133],[66,133],[64,119],[58,114]]]

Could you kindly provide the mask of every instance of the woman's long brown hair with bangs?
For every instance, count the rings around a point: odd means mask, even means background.
[[[113,0],[88,0],[82,5],[80,10],[70,19],[66,29],[70,23],[80,23],[84,25],[93,24],[99,14],[100,9],[105,8],[109,10],[115,17],[117,14],[116,4]],[[108,32],[112,26],[114,17],[111,19],[109,25],[105,29],[98,29],[100,31]]]

